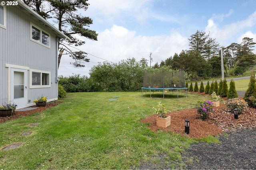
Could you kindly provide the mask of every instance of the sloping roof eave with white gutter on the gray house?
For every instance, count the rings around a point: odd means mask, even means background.
[[[28,15],[30,15],[32,18],[40,21],[43,25],[48,26],[49,29],[51,29],[54,33],[57,34],[59,38],[62,39],[68,39],[70,40],[64,33],[62,33],[59,29],[54,27],[51,23],[49,23],[47,20],[45,20],[42,16],[40,16],[38,13],[36,13],[34,10],[32,10],[29,6],[27,6],[22,0],[18,1],[18,7],[20,7],[20,10],[26,12]]]

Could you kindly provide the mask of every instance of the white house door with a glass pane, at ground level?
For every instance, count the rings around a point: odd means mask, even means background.
[[[11,68],[11,101],[17,104],[17,109],[26,107],[27,70]]]

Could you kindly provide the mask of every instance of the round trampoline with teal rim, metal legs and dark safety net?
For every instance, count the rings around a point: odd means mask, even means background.
[[[183,70],[153,70],[150,72],[144,72],[143,75],[143,87],[141,88],[141,96],[143,97],[143,93],[146,90],[150,90],[150,98],[152,97],[152,91],[162,90],[164,98],[165,90],[177,91],[177,97],[179,98],[179,90],[181,93],[185,90],[186,98],[188,97],[188,88],[185,85],[185,78]]]

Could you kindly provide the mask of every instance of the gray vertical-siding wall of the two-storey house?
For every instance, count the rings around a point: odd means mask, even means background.
[[[30,40],[30,22],[50,33],[50,49]],[[56,35],[47,26],[40,24],[16,6],[6,6],[6,29],[0,27],[0,105],[8,102],[5,64],[26,66],[30,69],[51,73],[51,88],[29,88],[30,72],[27,75],[27,104],[33,103],[38,96],[48,99],[58,97],[56,77]]]

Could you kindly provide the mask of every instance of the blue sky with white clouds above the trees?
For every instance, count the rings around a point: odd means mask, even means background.
[[[89,76],[99,62],[118,63],[134,57],[158,64],[175,53],[188,50],[188,38],[197,30],[210,32],[221,46],[241,43],[243,37],[256,42],[255,0],[89,0],[82,15],[93,19],[90,29],[98,41],[86,41],[78,49],[89,53],[90,63],[73,68],[63,56],[59,75]],[[256,49],[256,48],[254,48]],[[254,51],[256,53],[256,51]],[[105,60],[103,60],[105,59]]]

